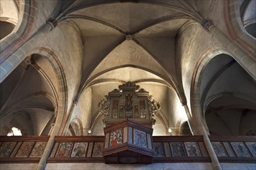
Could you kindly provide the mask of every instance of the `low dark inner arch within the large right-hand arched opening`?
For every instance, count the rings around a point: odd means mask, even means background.
[[[223,94],[208,104],[205,117],[209,134],[256,135],[256,107],[250,101]]]

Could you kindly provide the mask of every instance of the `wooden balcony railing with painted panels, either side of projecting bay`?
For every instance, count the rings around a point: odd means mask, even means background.
[[[209,136],[220,162],[256,163],[256,137]],[[0,137],[0,163],[40,161],[49,136]],[[104,136],[55,137],[47,162],[104,162]],[[210,162],[202,136],[154,136],[153,162]]]

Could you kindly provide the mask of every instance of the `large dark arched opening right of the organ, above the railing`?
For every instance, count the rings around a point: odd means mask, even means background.
[[[255,85],[231,56],[220,54],[209,61],[199,95],[209,134],[247,135],[256,129]]]

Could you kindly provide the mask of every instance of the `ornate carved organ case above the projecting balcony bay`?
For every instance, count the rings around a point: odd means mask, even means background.
[[[140,121],[149,127],[155,124],[154,114],[160,109],[160,104],[153,100],[147,90],[127,82],[114,89],[99,102],[99,111],[104,114],[102,122],[111,125],[128,118]]]

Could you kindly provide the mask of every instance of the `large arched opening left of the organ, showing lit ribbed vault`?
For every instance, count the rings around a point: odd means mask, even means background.
[[[54,121],[54,91],[40,63],[29,56],[0,84],[1,135],[12,127],[22,135],[48,135]],[[50,68],[47,68],[50,70]]]

